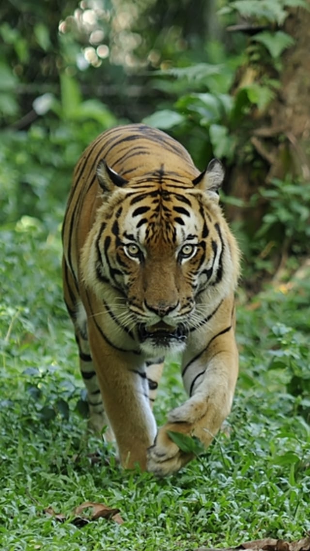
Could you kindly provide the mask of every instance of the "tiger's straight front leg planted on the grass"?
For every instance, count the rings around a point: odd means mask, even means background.
[[[156,435],[145,366],[137,368],[137,355],[121,352],[102,339],[90,320],[89,342],[121,465],[133,468],[138,463],[145,470],[146,453]]]

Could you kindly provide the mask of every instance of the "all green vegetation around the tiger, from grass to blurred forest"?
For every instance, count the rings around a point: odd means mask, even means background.
[[[189,0],[0,7],[4,551],[194,550],[310,530],[309,174],[286,149],[270,174],[253,134],[279,107],[287,48],[297,48],[287,22],[304,4],[201,0],[195,14]],[[222,201],[243,251],[232,414],[205,455],[165,480],[119,471],[113,451],[86,437],[60,276],[73,166],[103,129],[138,120],[180,139],[201,169],[211,155],[224,160]],[[279,131],[272,147],[286,141]],[[244,174],[252,187],[239,195]],[[182,397],[171,361],[159,423]],[[85,501],[118,508],[124,522],[77,526]]]

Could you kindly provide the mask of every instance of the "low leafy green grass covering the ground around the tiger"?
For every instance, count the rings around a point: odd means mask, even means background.
[[[3,228],[0,248],[3,551],[189,551],[310,530],[309,277],[250,303],[240,293],[241,373],[225,430],[199,460],[159,480],[121,471],[112,449],[86,437],[59,222],[23,218]],[[183,397],[171,363],[159,423]],[[124,523],[75,526],[73,510],[84,501],[118,507]],[[66,522],[46,515],[48,506]]]

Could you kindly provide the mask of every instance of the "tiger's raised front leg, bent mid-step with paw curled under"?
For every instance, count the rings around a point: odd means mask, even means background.
[[[217,337],[216,345],[220,352],[211,346],[191,363],[194,385],[190,397],[168,414],[168,422],[159,429],[148,451],[148,470],[158,476],[178,471],[194,457],[182,451],[167,431],[195,436],[206,448],[230,412],[238,375],[238,351],[232,332]]]

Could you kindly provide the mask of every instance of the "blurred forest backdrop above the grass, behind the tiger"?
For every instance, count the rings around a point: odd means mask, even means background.
[[[309,255],[303,0],[14,0],[0,7],[0,223],[59,224],[97,134],[144,121],[226,168],[247,293]]]

